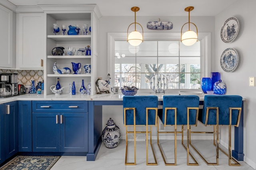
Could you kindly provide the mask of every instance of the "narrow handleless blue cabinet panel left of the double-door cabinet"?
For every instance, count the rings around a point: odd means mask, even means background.
[[[32,101],[18,101],[19,152],[32,152]]]

